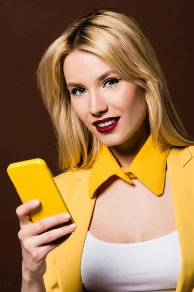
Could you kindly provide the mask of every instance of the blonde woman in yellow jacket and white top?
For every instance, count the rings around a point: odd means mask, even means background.
[[[32,223],[38,204],[17,208],[22,292],[194,291],[194,141],[139,25],[96,9],[49,46],[37,76],[76,227],[42,234],[67,214]]]

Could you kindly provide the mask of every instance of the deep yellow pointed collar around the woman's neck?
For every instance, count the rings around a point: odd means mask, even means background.
[[[150,134],[126,170],[120,167],[109,147],[102,145],[89,177],[89,197],[92,199],[97,188],[113,175],[120,177],[127,183],[133,183],[131,179],[138,178],[156,196],[162,195],[169,152],[170,148],[155,149],[152,134]]]

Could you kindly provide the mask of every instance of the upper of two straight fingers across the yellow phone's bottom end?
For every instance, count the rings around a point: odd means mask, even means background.
[[[42,232],[45,232],[49,228],[57,227],[59,224],[65,225],[65,222],[68,222],[69,218],[70,216],[68,213],[60,213],[38,220],[37,222],[33,223],[30,235],[38,235]]]

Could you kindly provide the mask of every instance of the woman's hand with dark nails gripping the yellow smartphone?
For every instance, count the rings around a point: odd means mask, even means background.
[[[48,253],[62,244],[76,228],[74,225],[71,229],[73,224],[56,228],[56,225],[69,221],[68,213],[57,214],[32,223],[29,213],[40,204],[40,201],[34,204],[35,201],[38,200],[28,201],[16,209],[20,221],[18,237],[23,257],[22,273],[28,279],[43,277],[47,269]],[[51,227],[54,229],[50,229]]]

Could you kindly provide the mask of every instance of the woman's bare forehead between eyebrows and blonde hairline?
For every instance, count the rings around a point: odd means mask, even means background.
[[[96,78],[108,70],[113,70],[111,65],[99,56],[79,50],[65,57],[63,69],[66,82],[81,82],[85,78]]]

